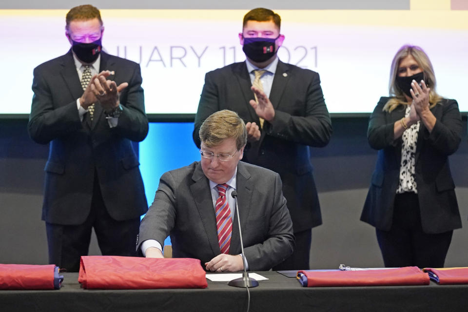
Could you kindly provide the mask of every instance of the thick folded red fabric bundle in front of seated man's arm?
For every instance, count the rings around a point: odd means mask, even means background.
[[[200,260],[82,256],[78,282],[86,289],[206,288]]]

